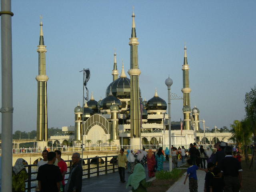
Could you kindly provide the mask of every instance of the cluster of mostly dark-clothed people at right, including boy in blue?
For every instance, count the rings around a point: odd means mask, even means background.
[[[190,192],[198,191],[196,175],[198,169],[206,172],[204,192],[239,192],[242,187],[242,156],[240,152],[236,152],[236,147],[232,148],[225,142],[220,142],[216,148],[216,152],[213,153],[210,148],[204,150],[203,146],[200,146],[198,149],[196,143],[190,144],[189,168],[184,180],[184,184],[186,184],[186,180],[189,178]]]

